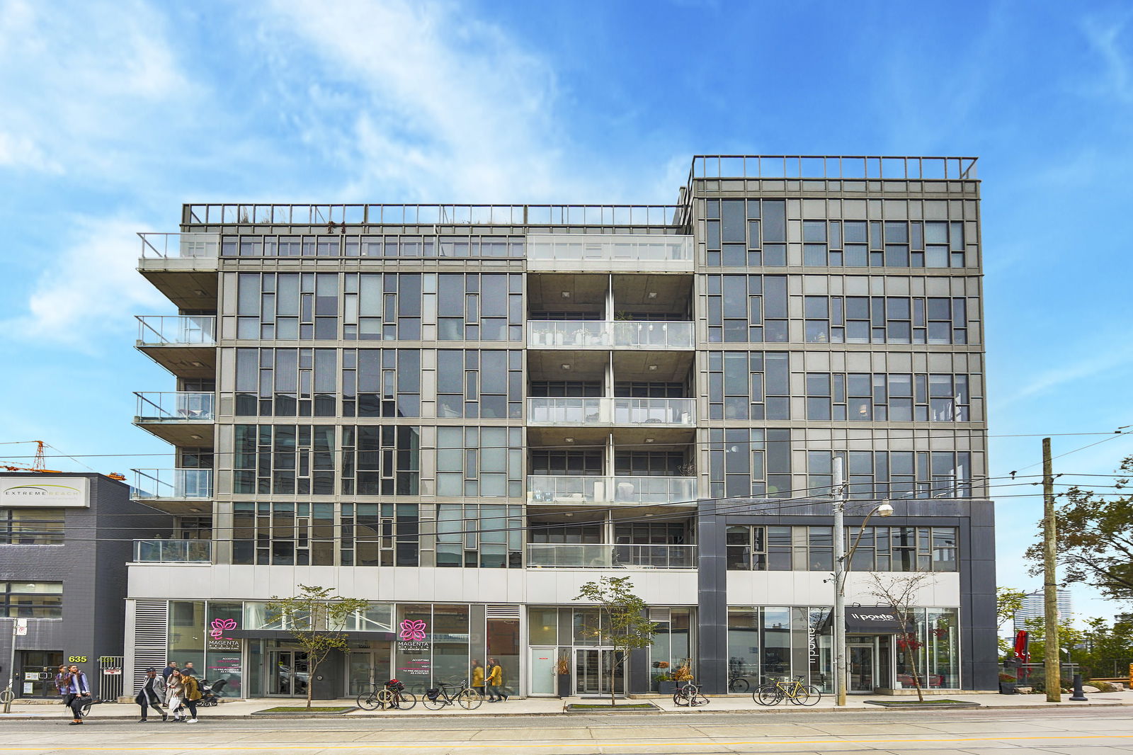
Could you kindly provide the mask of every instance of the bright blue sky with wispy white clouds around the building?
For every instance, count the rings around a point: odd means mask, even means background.
[[[696,153],[978,155],[993,474],[1133,424],[1126,2],[0,0],[0,441],[99,472],[169,463],[135,232],[180,203],[671,203]],[[1000,584],[1039,510],[1000,498]]]

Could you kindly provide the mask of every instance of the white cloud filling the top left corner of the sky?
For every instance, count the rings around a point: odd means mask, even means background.
[[[193,97],[173,49],[136,0],[0,0],[0,168],[127,178]]]

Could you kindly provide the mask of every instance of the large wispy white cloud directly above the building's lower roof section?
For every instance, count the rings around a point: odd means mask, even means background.
[[[550,62],[466,8],[403,0],[337,2],[317,14],[299,0],[275,8],[264,23],[323,63],[305,71],[306,60],[281,60],[289,84],[304,82],[307,143],[349,172],[351,195],[579,201],[610,183],[566,136]]]

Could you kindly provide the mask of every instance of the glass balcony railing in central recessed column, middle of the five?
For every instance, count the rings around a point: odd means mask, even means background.
[[[529,425],[696,425],[696,399],[676,398],[530,398]]]

